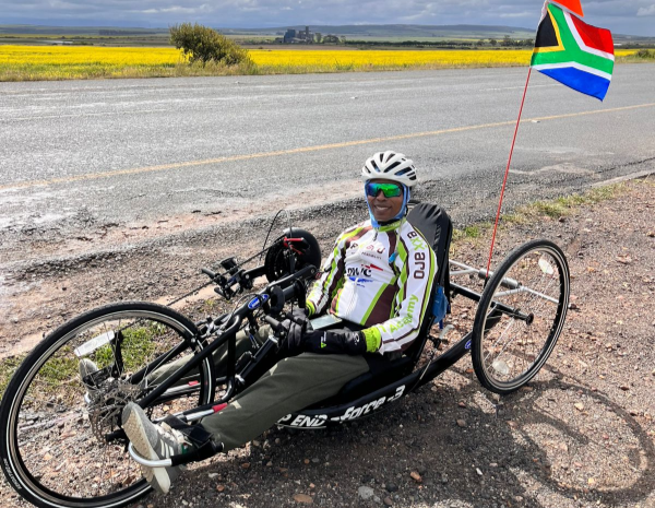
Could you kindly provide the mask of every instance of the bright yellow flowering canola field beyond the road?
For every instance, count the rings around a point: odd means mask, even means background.
[[[633,51],[617,51],[617,56]],[[527,66],[531,50],[253,49],[257,68],[182,66],[175,48],[0,46],[0,81]]]

